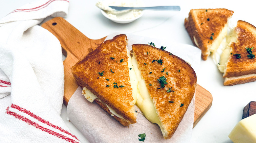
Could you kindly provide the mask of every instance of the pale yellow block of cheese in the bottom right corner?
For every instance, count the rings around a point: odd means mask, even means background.
[[[228,137],[234,143],[256,143],[256,114],[239,121]]]

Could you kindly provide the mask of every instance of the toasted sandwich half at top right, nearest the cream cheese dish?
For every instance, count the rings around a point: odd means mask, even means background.
[[[184,25],[193,44],[201,49],[203,60],[220,46],[233,13],[234,11],[224,8],[190,10]]]

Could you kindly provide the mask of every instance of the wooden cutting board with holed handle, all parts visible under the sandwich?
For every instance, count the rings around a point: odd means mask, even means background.
[[[69,99],[74,94],[78,85],[71,73],[71,67],[75,63],[93,51],[101,44],[106,37],[98,40],[92,40],[86,37],[83,33],[77,30],[73,25],[68,23],[61,17],[53,18],[52,20],[42,24],[42,27],[49,30],[60,41],[62,53],[66,56],[63,61],[64,65],[64,104],[67,105]],[[212,105],[212,95],[209,91],[197,85],[195,99],[195,116],[194,126],[203,117]]]

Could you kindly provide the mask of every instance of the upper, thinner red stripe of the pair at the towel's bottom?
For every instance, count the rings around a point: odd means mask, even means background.
[[[18,105],[15,105],[15,104],[11,104],[11,108],[14,108],[14,109],[17,109],[17,110],[19,110],[19,111],[21,111],[21,112],[23,112],[23,113],[26,113],[26,114],[28,114],[29,116],[33,117],[34,119],[37,119],[38,121],[40,121],[40,122],[42,122],[42,123],[44,123],[44,124],[47,124],[48,126],[51,126],[51,127],[55,128],[55,129],[58,129],[59,131],[65,133],[65,134],[71,135],[71,136],[73,136],[75,139],[77,139],[75,135],[72,135],[72,134],[69,133],[68,131],[66,131],[66,130],[64,130],[64,129],[62,129],[62,128],[60,128],[60,127],[58,127],[58,126],[56,126],[56,125],[54,125],[54,124],[52,124],[52,123],[50,123],[50,122],[47,121],[47,120],[42,119],[42,118],[39,117],[39,116],[36,116],[34,113],[30,112],[29,110],[26,110],[26,109],[24,109],[24,108],[22,108],[22,107],[20,107],[20,106],[18,106]],[[78,140],[78,139],[77,139],[77,140]]]

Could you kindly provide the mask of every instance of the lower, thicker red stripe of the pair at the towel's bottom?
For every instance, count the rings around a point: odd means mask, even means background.
[[[47,129],[47,128],[45,128],[45,127],[43,127],[43,126],[37,124],[36,122],[33,122],[32,120],[30,120],[30,119],[28,119],[28,118],[26,118],[26,117],[24,117],[24,116],[21,116],[21,115],[15,113],[15,112],[10,111],[10,110],[9,110],[9,107],[8,107],[6,110],[7,110],[7,111],[6,111],[7,114],[9,114],[9,115],[15,117],[16,119],[20,119],[20,120],[22,120],[22,121],[25,121],[25,122],[28,123],[29,125],[32,125],[32,126],[36,127],[37,129],[40,129],[40,130],[42,130],[42,131],[44,131],[44,132],[46,132],[46,133],[49,133],[50,135],[57,136],[57,137],[59,137],[59,138],[61,138],[61,139],[64,139],[64,140],[66,140],[66,141],[68,141],[68,142],[71,142],[71,143],[78,143],[78,142],[75,141],[74,139],[71,139],[71,138],[69,138],[69,137],[67,137],[67,136],[64,136],[64,135],[61,135],[61,134],[59,134],[59,133],[56,133],[56,132],[54,132],[54,131],[52,131],[52,130],[50,130],[50,129]]]

